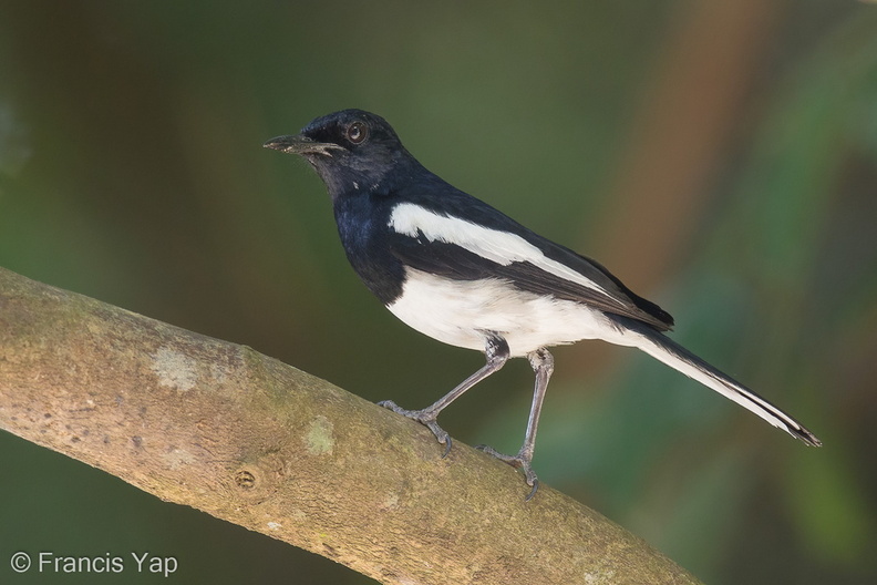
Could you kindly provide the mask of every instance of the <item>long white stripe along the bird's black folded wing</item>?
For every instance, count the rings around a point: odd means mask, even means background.
[[[482,258],[508,266],[516,261],[528,261],[548,274],[599,290],[611,298],[605,288],[580,273],[545,256],[539,248],[523,237],[488,227],[433,213],[413,203],[400,203],[393,208],[388,224],[398,234],[417,237],[417,233],[430,242],[454,244]]]

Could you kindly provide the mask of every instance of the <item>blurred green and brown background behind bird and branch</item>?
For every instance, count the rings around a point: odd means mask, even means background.
[[[483,357],[381,307],[314,173],[261,148],[343,107],[600,259],[825,443],[585,342],[555,352],[544,482],[711,584],[877,582],[877,7],[0,1],[0,266],[426,406]],[[515,451],[530,384],[516,360],[442,423]],[[0,458],[1,583],[162,579],[18,575],[16,551],[372,583],[7,433]]]

